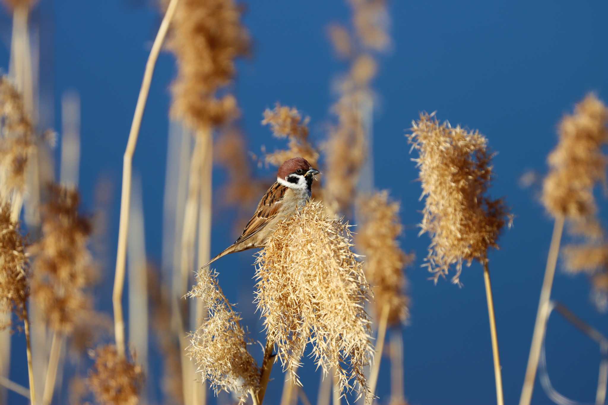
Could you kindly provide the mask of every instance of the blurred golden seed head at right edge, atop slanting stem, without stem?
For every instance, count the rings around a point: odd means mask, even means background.
[[[593,186],[606,185],[608,109],[593,94],[576,104],[573,115],[559,123],[558,146],[548,157],[551,167],[543,185],[542,202],[555,216],[581,219],[596,211]]]

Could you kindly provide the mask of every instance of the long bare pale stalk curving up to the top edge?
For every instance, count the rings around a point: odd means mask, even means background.
[[[120,222],[118,248],[116,253],[116,275],[114,276],[114,291],[112,292],[112,304],[114,306],[114,335],[116,336],[116,347],[120,356],[125,356],[125,319],[122,311],[122,291],[125,285],[125,262],[126,262],[126,239],[129,230],[129,209],[131,206],[131,171],[133,166],[133,153],[137,145],[137,137],[139,136],[139,128],[142,123],[143,110],[145,109],[148,93],[150,92],[150,83],[156,66],[156,60],[161,52],[162,43],[167,35],[167,30],[171,22],[171,18],[175,13],[179,0],[171,0],[167,7],[167,12],[162,19],[159,27],[150,56],[146,63],[143,72],[142,86],[137,97],[135,114],[133,115],[133,123],[131,123],[131,131],[126,144],[125,155],[123,157],[123,172],[122,172],[122,193],[120,196]]]

